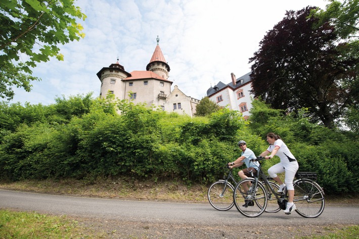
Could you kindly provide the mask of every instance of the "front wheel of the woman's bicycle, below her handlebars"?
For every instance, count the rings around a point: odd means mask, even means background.
[[[233,200],[237,210],[246,217],[257,217],[262,214],[267,205],[266,191],[258,182],[254,188],[253,179],[240,181],[234,190]],[[251,190],[248,190],[252,186]]]

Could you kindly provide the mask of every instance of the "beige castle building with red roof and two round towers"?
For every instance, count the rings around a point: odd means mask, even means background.
[[[192,117],[200,100],[185,95],[177,86],[171,91],[173,82],[168,80],[169,71],[157,36],[157,46],[146,71],[128,73],[117,59],[116,63],[97,73],[101,81],[100,97],[114,94],[118,99],[128,99],[135,104],[145,102],[151,107]]]

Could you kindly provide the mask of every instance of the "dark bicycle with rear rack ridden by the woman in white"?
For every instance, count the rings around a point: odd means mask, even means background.
[[[287,190],[277,193],[277,190],[272,188],[268,177],[261,169],[264,158],[257,157],[252,160],[259,162],[259,170],[253,178],[247,178],[237,183],[233,193],[233,201],[237,210],[246,217],[257,217],[264,211],[284,210],[288,203]],[[295,211],[303,217],[320,216],[324,210],[325,198],[323,189],[312,180],[317,178],[317,174],[315,172],[297,172],[295,177],[297,178],[293,182],[295,192],[293,202],[297,207]],[[244,192],[244,184],[251,184],[252,188]],[[277,201],[277,205],[274,204],[275,201]],[[268,206],[270,210],[266,210]]]

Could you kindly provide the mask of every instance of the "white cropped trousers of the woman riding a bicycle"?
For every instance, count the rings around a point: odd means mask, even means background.
[[[284,183],[287,186],[287,190],[294,190],[293,180],[298,168],[299,165],[297,161],[289,162],[286,164],[280,162],[270,167],[268,169],[268,174],[271,177],[277,177],[278,176],[277,173],[285,172]]]

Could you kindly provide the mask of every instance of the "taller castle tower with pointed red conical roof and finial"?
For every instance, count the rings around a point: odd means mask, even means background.
[[[155,51],[153,52],[152,58],[150,60],[150,63],[147,65],[146,67],[146,71],[151,71],[156,73],[157,75],[159,75],[160,77],[164,78],[164,79],[168,79],[169,77],[169,65],[167,64],[161,48],[159,46],[159,41],[160,38],[157,36],[157,46],[155,48]]]

